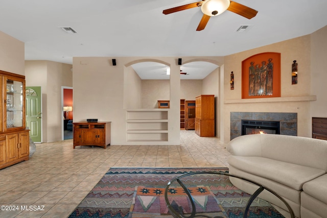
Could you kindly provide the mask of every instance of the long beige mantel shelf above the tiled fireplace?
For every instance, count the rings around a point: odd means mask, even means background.
[[[240,103],[270,103],[270,102],[309,102],[317,101],[316,95],[295,96],[295,97],[278,97],[278,98],[257,98],[257,99],[234,99],[225,100],[225,104],[240,104]]]

